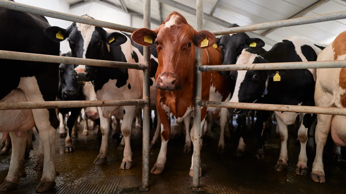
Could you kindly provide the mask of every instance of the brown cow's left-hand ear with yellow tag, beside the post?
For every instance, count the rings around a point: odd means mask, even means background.
[[[132,33],[131,38],[138,45],[150,46],[155,41],[156,36],[157,34],[154,30],[150,30],[147,28],[139,28],[138,30]]]

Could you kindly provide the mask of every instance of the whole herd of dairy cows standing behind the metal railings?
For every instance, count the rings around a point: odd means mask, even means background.
[[[91,18],[88,15],[83,17]],[[116,30],[73,22],[68,28],[51,27],[42,17],[0,8],[2,26],[0,50],[30,52],[45,55],[60,55],[59,42],[67,40],[71,51],[61,56],[99,59],[131,63],[144,63],[143,46],[151,46],[151,109],[157,118],[157,127],[151,147],[161,134],[161,148],[153,174],[165,169],[167,144],[171,135],[171,115],[175,122],[183,122],[186,130],[184,153],[191,152],[194,126],[195,50],[202,48],[201,65],[258,64],[271,62],[298,62],[345,60],[346,32],[341,33],[328,46],[312,43],[300,37],[288,37],[276,43],[270,50],[262,47],[264,41],[250,38],[246,33],[222,35],[216,38],[209,31],[196,31],[186,19],[172,12],[155,30],[137,29],[132,35]],[[232,25],[230,27],[235,27]],[[54,100],[130,100],[143,97],[143,71],[125,68],[94,67],[85,65],[49,64],[44,62],[0,59],[0,101],[54,101]],[[270,64],[268,64],[270,65]],[[289,70],[241,70],[202,73],[202,100],[283,104],[321,107],[346,107],[346,70],[335,69],[289,69]],[[82,108],[1,110],[0,131],[6,154],[12,145],[12,157],[7,177],[1,191],[13,190],[19,184],[25,155],[32,147],[32,130],[39,135],[39,157],[34,169],[43,170],[36,188],[44,192],[55,186],[55,138],[59,128],[60,138],[65,138],[65,152],[73,152],[72,137],[77,138],[78,118]],[[84,108],[83,135],[88,135],[88,119],[98,126],[101,137],[100,152],[94,164],[107,162],[108,138],[112,118],[121,128],[122,140],[119,149],[124,150],[121,169],[134,166],[131,151],[133,121],[139,126],[142,120],[141,107],[88,107]],[[252,111],[253,113],[255,111]],[[224,134],[232,115],[238,115],[240,127],[238,155],[245,151],[246,116],[248,110],[238,108],[202,107],[202,134],[210,130],[213,115],[220,117],[218,152],[224,151]],[[254,115],[254,114],[253,114]],[[256,111],[253,130],[256,134],[256,156],[264,157],[264,123],[269,111]],[[281,151],[274,169],[284,171],[287,167],[288,125],[295,123],[299,113],[274,112],[277,133],[280,134]],[[67,120],[65,119],[68,116]],[[315,129],[316,158],[311,177],[315,182],[325,182],[322,153],[329,130],[338,147],[346,145],[346,118],[344,116],[301,114],[298,129],[300,154],[296,174],[307,175],[306,147],[308,131]],[[253,116],[252,116],[253,117]],[[59,118],[59,119],[58,119]],[[60,124],[59,124],[60,120]],[[120,126],[120,120],[122,120]],[[60,127],[59,127],[60,126]],[[242,129],[243,128],[243,129]],[[200,130],[200,129],[198,129]],[[161,133],[160,133],[161,131]],[[311,132],[310,132],[311,134]],[[312,133],[313,134],[313,133]],[[9,136],[8,136],[9,135]],[[10,141],[11,140],[11,141]],[[310,141],[310,140],[309,140]],[[312,139],[313,141],[313,139]],[[202,144],[201,144],[202,146]],[[193,158],[193,155],[192,155]],[[189,175],[193,176],[193,163]],[[202,175],[202,169],[200,169]]]

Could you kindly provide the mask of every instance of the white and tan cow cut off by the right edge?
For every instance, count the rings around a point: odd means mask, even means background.
[[[317,61],[346,59],[346,31],[323,49]],[[346,108],[346,68],[316,69],[315,104],[319,107]],[[329,129],[334,143],[339,148],[346,146],[346,117],[340,115],[317,115],[315,130],[316,156],[312,164],[311,178],[315,182],[326,182],[322,161],[323,149]]]

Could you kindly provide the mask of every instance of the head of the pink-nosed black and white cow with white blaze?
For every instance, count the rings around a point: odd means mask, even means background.
[[[82,17],[91,18],[88,15]],[[91,18],[93,19],[93,18]],[[95,27],[73,22],[67,29],[52,26],[44,29],[47,38],[60,42],[65,39],[70,44],[72,57],[86,59],[102,59],[106,44],[121,45],[127,37],[120,32],[108,33],[101,27]],[[94,79],[95,67],[75,65],[73,78],[78,81],[91,81]]]

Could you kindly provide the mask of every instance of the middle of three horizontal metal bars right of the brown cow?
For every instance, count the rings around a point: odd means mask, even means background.
[[[322,69],[322,68],[345,68],[346,60],[337,61],[305,61],[305,62],[274,62],[261,64],[241,65],[203,65],[199,67],[202,72],[206,71],[239,71],[239,70],[270,70],[270,69]]]

